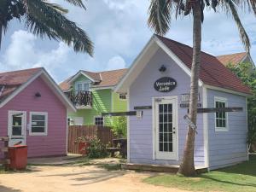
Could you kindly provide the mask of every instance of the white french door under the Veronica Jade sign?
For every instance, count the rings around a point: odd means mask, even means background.
[[[155,158],[177,160],[177,96],[154,100]]]

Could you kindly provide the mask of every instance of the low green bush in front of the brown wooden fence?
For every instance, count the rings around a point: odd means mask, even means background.
[[[100,139],[92,137],[88,148],[89,158],[104,158],[108,156],[107,145],[104,145]]]

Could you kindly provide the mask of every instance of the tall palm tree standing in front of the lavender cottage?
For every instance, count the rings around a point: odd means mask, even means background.
[[[220,8],[236,22],[241,42],[247,53],[250,50],[250,41],[247,32],[241,24],[237,9],[253,10],[256,15],[256,0],[151,0],[148,9],[148,26],[157,34],[165,35],[168,32],[172,17],[193,15],[193,60],[191,67],[189,118],[196,125],[198,79],[201,65],[201,23],[204,20],[205,5],[212,7],[214,11]],[[178,173],[184,176],[195,175],[194,164],[195,131],[189,127],[187,139],[183,150],[183,160]]]

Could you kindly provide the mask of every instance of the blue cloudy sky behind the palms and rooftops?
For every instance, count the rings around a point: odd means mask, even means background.
[[[0,50],[0,71],[45,67],[56,82],[67,79],[79,69],[104,71],[130,67],[152,36],[148,29],[148,0],[88,0],[87,10],[73,7],[63,0],[52,0],[69,9],[67,15],[88,32],[95,44],[94,57],[77,54],[65,44],[34,37],[17,20],[9,25]],[[256,61],[256,18],[242,14],[241,20],[251,39],[251,55]],[[232,18],[206,12],[202,31],[202,49],[212,55],[244,51]],[[167,38],[192,44],[192,18],[172,20]]]

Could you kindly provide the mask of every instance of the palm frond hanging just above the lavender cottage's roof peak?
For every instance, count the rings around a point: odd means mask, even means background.
[[[148,15],[148,26],[157,34],[165,35],[171,25],[172,1],[151,0]]]

